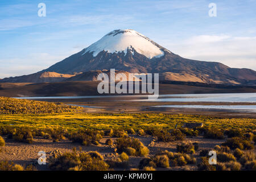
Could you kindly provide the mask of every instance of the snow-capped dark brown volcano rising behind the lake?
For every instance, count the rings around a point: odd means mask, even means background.
[[[130,73],[159,73],[160,80],[165,81],[256,84],[256,72],[252,69],[230,68],[217,62],[185,59],[130,29],[111,31],[89,47],[38,73],[65,74],[68,80],[80,81],[88,80],[86,75],[92,71],[95,73],[112,68]],[[77,73],[82,75],[77,76]],[[11,77],[3,78],[0,82],[25,82],[23,80],[22,77]],[[34,80],[30,79],[31,82],[57,79]],[[61,81],[65,81],[64,77],[61,77]]]

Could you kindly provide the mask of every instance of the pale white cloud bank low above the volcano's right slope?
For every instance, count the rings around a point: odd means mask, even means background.
[[[256,37],[199,35],[164,46],[188,59],[217,61],[232,68],[256,70]]]

